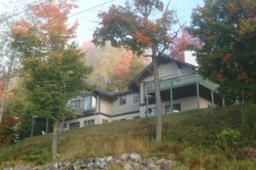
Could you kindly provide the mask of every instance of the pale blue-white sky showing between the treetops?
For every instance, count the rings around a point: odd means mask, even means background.
[[[4,7],[3,3],[10,4],[15,2],[18,2],[18,11],[24,11],[27,8],[26,3],[29,1],[32,2],[33,0],[0,0],[0,11],[11,11],[11,9],[8,9],[11,7]],[[69,18],[70,22],[74,22],[75,20],[77,20],[79,23],[77,29],[77,42],[79,45],[81,45],[84,41],[92,39],[93,30],[95,30],[95,27],[99,22],[99,19],[97,17],[99,11],[107,11],[109,6],[111,6],[112,4],[124,4],[126,0],[113,0],[110,3],[107,3],[109,1],[110,0],[77,0],[79,8],[72,11],[70,15],[77,14],[80,11],[89,10],[100,4],[105,4],[93,10],[86,11],[72,18]],[[165,4],[167,4],[168,1],[169,0],[163,0]],[[177,11],[178,17],[180,18],[182,23],[187,21],[187,25],[189,25],[191,20],[191,12],[197,5],[203,5],[203,0],[172,0],[170,7],[171,9]]]

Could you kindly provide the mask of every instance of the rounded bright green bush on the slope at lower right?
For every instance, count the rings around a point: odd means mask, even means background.
[[[223,130],[219,135],[217,135],[216,145],[221,150],[230,149],[234,151],[243,146],[244,141],[239,131],[227,129]]]

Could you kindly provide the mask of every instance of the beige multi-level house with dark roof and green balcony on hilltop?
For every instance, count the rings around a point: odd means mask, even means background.
[[[196,66],[167,55],[158,64],[163,114],[224,104],[216,93],[218,86],[197,74]],[[64,121],[62,129],[156,115],[153,74],[150,64],[125,90],[93,89],[86,96],[71,99],[77,118]]]

